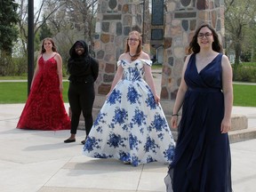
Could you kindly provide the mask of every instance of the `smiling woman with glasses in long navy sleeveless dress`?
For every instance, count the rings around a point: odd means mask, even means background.
[[[189,51],[172,111],[171,124],[177,128],[182,107],[167,191],[231,192],[232,68],[210,25],[196,30]]]

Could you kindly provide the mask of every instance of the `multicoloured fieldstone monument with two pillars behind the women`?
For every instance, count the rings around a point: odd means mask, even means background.
[[[149,7],[152,12],[149,12]],[[152,20],[149,13],[152,13]],[[150,54],[150,46],[164,46],[161,104],[170,123],[181,70],[188,55],[188,44],[197,26],[202,23],[211,24],[220,42],[224,43],[223,0],[99,0],[93,42],[95,58],[100,63],[100,73],[95,83],[94,119],[110,90],[116,62],[124,52],[127,36],[132,30],[138,30],[142,33],[145,52]],[[236,119],[233,118],[233,122]],[[244,121],[241,126],[247,128],[247,119],[244,116],[241,119]],[[175,137],[175,132],[172,133]],[[243,137],[236,135],[236,140]]]

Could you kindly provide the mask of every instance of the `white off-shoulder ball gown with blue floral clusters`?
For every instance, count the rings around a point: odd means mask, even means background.
[[[174,140],[160,103],[144,81],[151,60],[118,60],[124,76],[109,94],[84,144],[84,155],[116,158],[134,166],[172,163]]]

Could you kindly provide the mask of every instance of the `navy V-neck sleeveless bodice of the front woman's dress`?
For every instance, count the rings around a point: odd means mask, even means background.
[[[199,73],[196,68],[196,54],[192,54],[188,67],[185,72],[185,81],[188,88],[212,88],[222,89],[222,73],[221,73],[222,54],[218,54],[209,64],[207,64]]]

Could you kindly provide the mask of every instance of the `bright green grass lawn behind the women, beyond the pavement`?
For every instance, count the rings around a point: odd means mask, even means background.
[[[63,83],[63,99],[68,102],[68,82]],[[234,84],[234,106],[256,107],[256,85]],[[0,104],[25,103],[28,83],[0,83]]]

